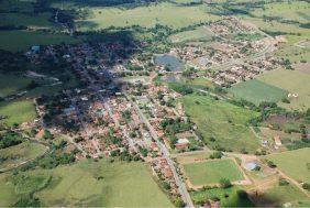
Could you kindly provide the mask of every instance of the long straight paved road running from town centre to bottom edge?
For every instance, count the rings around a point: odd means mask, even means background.
[[[125,95],[126,96],[126,95]],[[128,96],[126,96],[128,97]],[[128,97],[129,100],[131,100],[129,97]],[[175,178],[175,182],[178,186],[178,189],[179,189],[179,193],[181,195],[181,198],[182,200],[185,201],[186,206],[187,207],[195,207],[192,201],[191,201],[191,198],[184,185],[184,183],[180,180],[178,174],[177,174],[177,171],[176,171],[176,167],[174,165],[174,162],[173,160],[170,158],[170,153],[168,152],[168,150],[166,149],[166,146],[164,146],[159,140],[158,140],[158,136],[157,136],[157,133],[156,131],[153,129],[153,127],[150,124],[148,120],[145,118],[145,116],[143,114],[143,112],[140,110],[140,108],[136,106],[135,102],[133,102],[131,100],[133,107],[135,108],[136,112],[139,113],[140,118],[142,118],[143,122],[146,124],[146,127],[150,129],[150,132],[151,132],[151,135],[152,138],[156,141],[156,144],[157,146],[159,147],[160,152],[163,153],[163,156],[167,160],[168,162],[168,165],[170,166],[171,171],[173,171],[173,174],[174,174],[174,178]]]

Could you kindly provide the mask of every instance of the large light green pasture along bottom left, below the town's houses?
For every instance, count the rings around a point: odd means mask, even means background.
[[[84,161],[24,175],[52,177],[51,183],[35,194],[42,206],[173,207],[152,178],[150,167],[142,163]],[[11,196],[15,199],[19,196],[15,187],[8,179],[0,180],[0,187],[11,193],[1,195],[0,190],[0,206],[12,205]]]

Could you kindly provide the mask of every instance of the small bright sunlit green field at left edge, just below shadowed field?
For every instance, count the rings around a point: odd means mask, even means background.
[[[35,108],[31,100],[0,102],[0,114],[8,117],[7,119],[0,120],[0,122],[8,125],[32,121],[36,117]]]

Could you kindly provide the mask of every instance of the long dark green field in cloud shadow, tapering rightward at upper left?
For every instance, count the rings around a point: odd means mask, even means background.
[[[21,39],[22,37],[22,39]],[[79,39],[74,39],[65,34],[52,34],[47,32],[30,31],[0,31],[0,48],[12,52],[29,50],[32,45],[47,45],[60,43],[78,43]]]

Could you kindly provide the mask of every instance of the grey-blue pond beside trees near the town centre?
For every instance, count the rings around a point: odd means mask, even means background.
[[[154,63],[156,65],[167,66],[171,72],[181,72],[184,69],[181,61],[173,55],[155,55]]]

